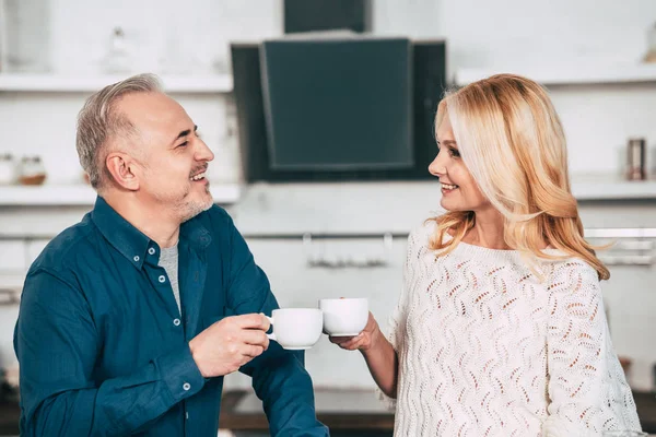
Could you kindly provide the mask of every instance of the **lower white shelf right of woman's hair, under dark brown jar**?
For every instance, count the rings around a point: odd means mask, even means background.
[[[613,176],[572,177],[572,193],[577,200],[656,200],[656,180],[621,180]]]

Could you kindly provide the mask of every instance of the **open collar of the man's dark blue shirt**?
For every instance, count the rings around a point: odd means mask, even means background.
[[[212,241],[200,215],[183,223],[179,240],[192,248],[204,249]],[[160,246],[117,213],[102,197],[97,197],[91,218],[103,236],[136,268],[141,269],[148,256],[160,258]],[[152,252],[152,253],[151,253]]]

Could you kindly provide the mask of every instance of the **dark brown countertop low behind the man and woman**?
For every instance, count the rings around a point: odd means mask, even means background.
[[[656,392],[634,391],[633,397],[643,430],[656,434]],[[318,388],[315,404],[319,421],[330,428],[331,434],[358,432],[358,435],[366,435],[394,429],[394,413],[387,411],[371,390]],[[15,401],[0,401],[0,436],[19,435],[19,416]],[[224,392],[219,423],[221,428],[235,432],[268,429],[261,402],[251,391]]]

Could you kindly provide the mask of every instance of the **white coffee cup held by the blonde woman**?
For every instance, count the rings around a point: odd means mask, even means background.
[[[331,336],[358,335],[368,320],[366,298],[320,299],[324,332]]]

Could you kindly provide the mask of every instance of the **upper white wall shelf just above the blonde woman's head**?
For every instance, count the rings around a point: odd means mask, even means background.
[[[610,84],[656,82],[656,63],[573,64],[558,68],[488,68],[456,71],[456,85],[489,78],[492,74],[514,73],[543,85]]]

